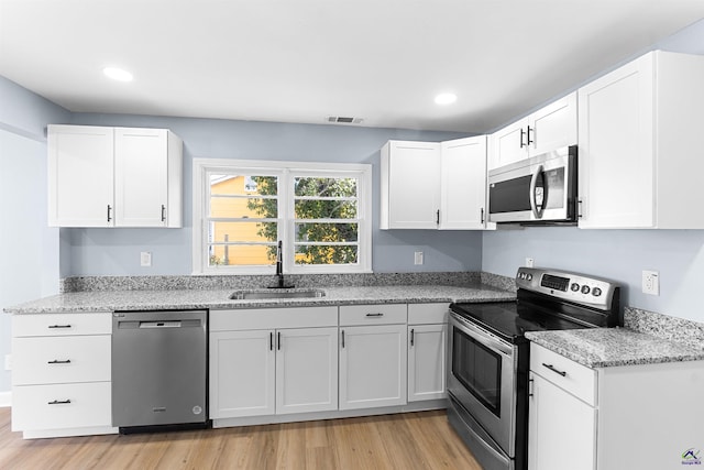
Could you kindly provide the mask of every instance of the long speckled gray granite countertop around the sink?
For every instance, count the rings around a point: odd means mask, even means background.
[[[166,310],[196,308],[300,307],[355,304],[421,304],[440,302],[510,302],[513,292],[485,284],[468,287],[443,285],[317,287],[324,297],[233,300],[238,289],[90,291],[59,294],[6,307],[9,314],[55,311]]]

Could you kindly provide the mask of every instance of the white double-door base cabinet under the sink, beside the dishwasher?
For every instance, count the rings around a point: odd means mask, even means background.
[[[337,307],[211,311],[210,331],[211,418],[338,408]]]

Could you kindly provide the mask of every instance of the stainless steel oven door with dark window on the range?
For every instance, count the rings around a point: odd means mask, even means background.
[[[448,392],[514,458],[517,347],[454,313],[449,321]]]

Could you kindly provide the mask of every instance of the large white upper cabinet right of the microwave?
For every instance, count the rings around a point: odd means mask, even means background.
[[[702,229],[704,57],[651,52],[579,90],[581,228]]]

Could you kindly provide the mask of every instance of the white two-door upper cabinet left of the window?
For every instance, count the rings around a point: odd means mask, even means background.
[[[182,227],[183,143],[166,129],[50,125],[48,225]]]

